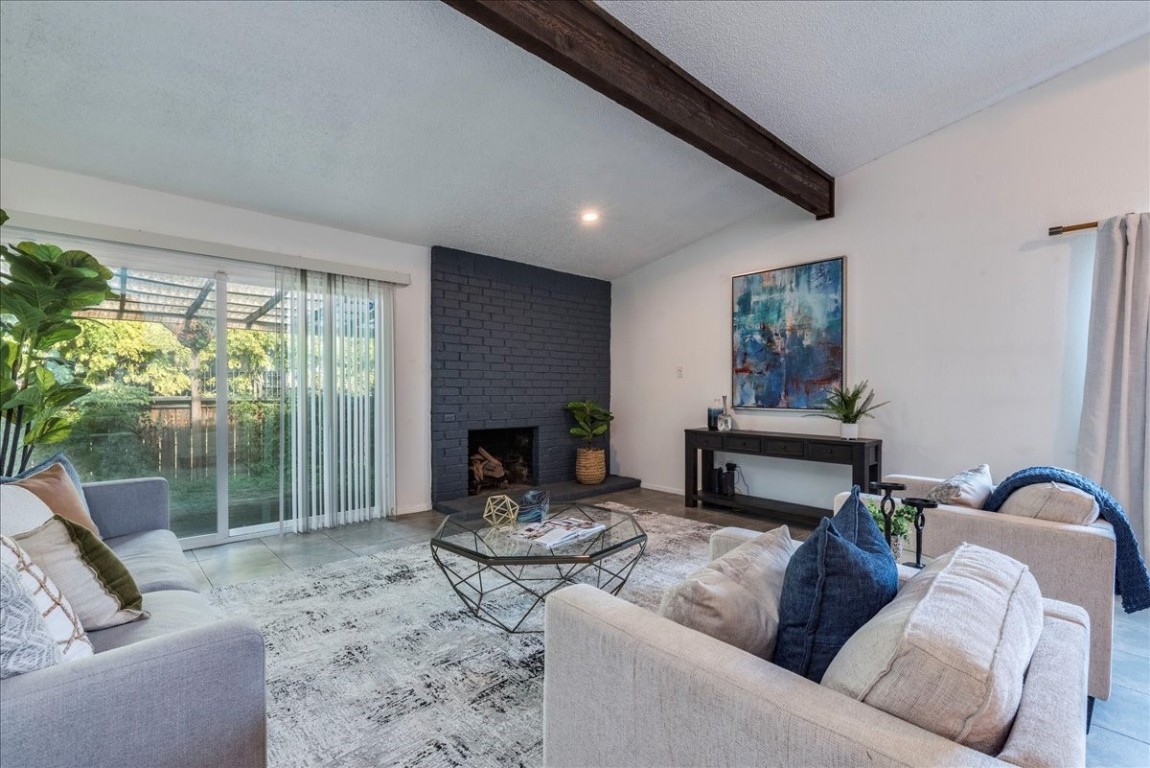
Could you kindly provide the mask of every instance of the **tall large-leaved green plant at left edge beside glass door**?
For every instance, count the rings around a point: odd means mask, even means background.
[[[0,244],[0,474],[23,471],[36,446],[71,431],[68,410],[91,387],[59,346],[80,333],[74,313],[116,298],[109,279],[84,251]]]

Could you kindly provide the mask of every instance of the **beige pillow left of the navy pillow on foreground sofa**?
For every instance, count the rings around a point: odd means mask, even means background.
[[[779,636],[779,596],[795,548],[785,525],[767,531],[667,590],[659,613],[770,659]]]

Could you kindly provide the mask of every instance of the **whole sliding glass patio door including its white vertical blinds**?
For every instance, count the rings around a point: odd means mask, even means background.
[[[93,391],[45,455],[85,481],[166,477],[192,546],[394,513],[389,286],[67,245],[113,269],[118,297],[63,352]]]

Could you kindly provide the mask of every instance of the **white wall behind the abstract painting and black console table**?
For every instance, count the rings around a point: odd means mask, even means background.
[[[1148,40],[837,179],[833,220],[783,206],[615,281],[612,470],[681,491],[682,430],[730,392],[730,277],[843,254],[846,376],[891,401],[861,425],[883,439],[885,473],[1074,467],[1094,233],[1046,228],[1150,208]],[[733,460],[756,496],[828,505],[850,482],[828,464]]]

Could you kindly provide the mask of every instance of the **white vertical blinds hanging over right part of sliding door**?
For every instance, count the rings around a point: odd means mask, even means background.
[[[393,516],[392,286],[301,271],[285,293],[296,530]]]

